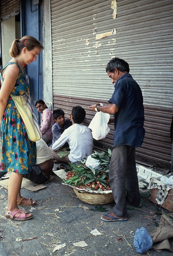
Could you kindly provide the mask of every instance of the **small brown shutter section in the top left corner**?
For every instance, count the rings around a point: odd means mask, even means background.
[[[20,13],[20,0],[0,0],[0,21]]]

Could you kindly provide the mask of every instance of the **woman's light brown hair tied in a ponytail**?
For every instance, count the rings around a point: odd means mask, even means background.
[[[18,56],[22,49],[26,47],[28,51],[33,50],[35,47],[38,49],[44,49],[42,43],[33,36],[23,36],[20,40],[15,39],[9,49],[9,54],[12,57]]]

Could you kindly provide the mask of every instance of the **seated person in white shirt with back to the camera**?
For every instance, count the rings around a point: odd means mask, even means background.
[[[93,138],[91,129],[82,125],[85,119],[85,109],[80,106],[72,108],[72,114],[70,118],[72,120],[72,126],[67,128],[60,138],[55,141],[50,148],[53,153],[53,158],[59,162],[73,163],[81,161],[81,159],[87,158],[92,154],[93,150]],[[57,154],[57,150],[60,149],[66,142],[69,144],[69,154],[63,158]]]

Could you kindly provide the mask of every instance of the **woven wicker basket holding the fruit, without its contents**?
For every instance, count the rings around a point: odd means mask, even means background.
[[[84,203],[101,205],[114,202],[112,192],[107,194],[94,194],[80,191],[75,188],[73,188],[73,190],[76,196]]]

